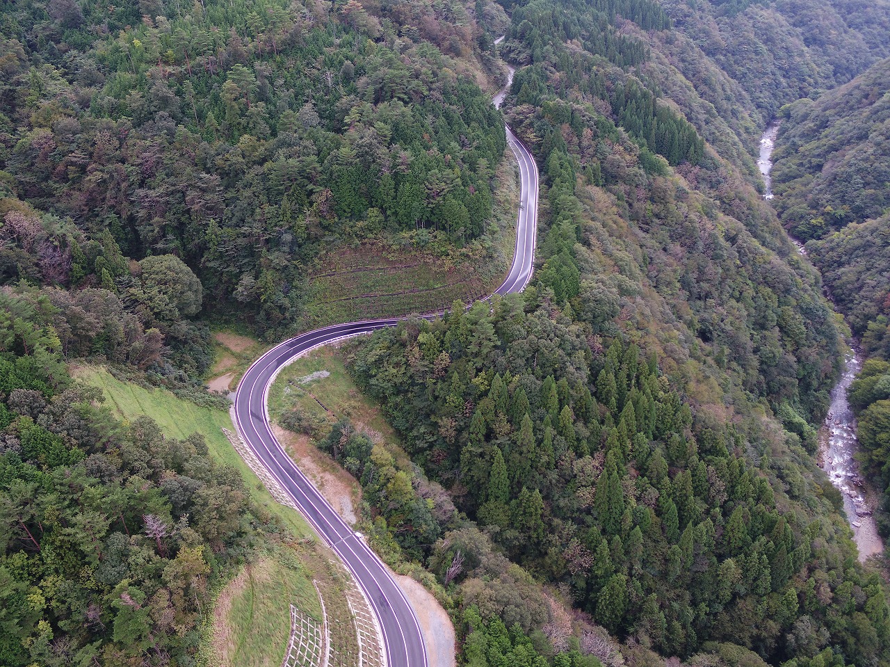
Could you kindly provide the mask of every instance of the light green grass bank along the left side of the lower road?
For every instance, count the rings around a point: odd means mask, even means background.
[[[228,348],[247,344],[248,339],[221,337]],[[342,365],[341,365],[342,369]],[[290,637],[290,605],[321,622],[318,582],[324,598],[334,663],[338,667],[357,665],[358,644],[352,627],[352,613],[344,597],[346,582],[342,568],[332,565],[336,556],[317,543],[303,517],[271,498],[262,482],[234,451],[223,428],[233,430],[229,413],[198,406],[156,387],[138,386],[114,378],[98,367],[77,367],[74,377],[88,386],[101,389],[106,403],[127,423],[157,420],[168,438],[204,438],[208,455],[222,465],[237,469],[255,511],[275,517],[275,528],[264,541],[243,555],[241,565],[220,572],[212,587],[213,606],[206,607],[204,637],[199,645],[201,664],[279,665]],[[340,386],[349,382],[341,370]],[[336,386],[336,385],[335,385]],[[326,389],[329,387],[326,387]],[[346,388],[344,398],[370,410],[372,403]],[[341,403],[334,403],[337,409]],[[352,412],[360,414],[360,410]],[[379,419],[378,427],[386,427]]]

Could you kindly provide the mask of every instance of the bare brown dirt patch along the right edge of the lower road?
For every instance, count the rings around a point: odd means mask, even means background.
[[[308,436],[297,435],[277,425],[272,425],[272,433],[336,513],[354,526],[357,520],[355,508],[361,501],[360,485],[355,477],[313,445]]]

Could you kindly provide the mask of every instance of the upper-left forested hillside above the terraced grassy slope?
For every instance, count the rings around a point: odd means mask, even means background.
[[[64,271],[91,241],[134,259],[174,254],[217,307],[283,329],[324,244],[417,229],[478,237],[505,147],[473,81],[490,66],[481,28],[459,4],[379,14],[4,4],[4,187],[82,235],[54,248],[62,262],[47,280],[98,284],[106,268],[128,280],[125,265]]]

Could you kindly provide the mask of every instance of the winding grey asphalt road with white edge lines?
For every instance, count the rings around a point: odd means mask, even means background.
[[[510,71],[510,79],[513,70]],[[509,85],[509,83],[507,84]],[[504,91],[495,96],[495,106],[504,99]],[[522,181],[520,208],[516,224],[516,250],[510,272],[495,294],[521,292],[531,278],[538,226],[538,167],[531,153],[509,127],[506,138],[519,162]],[[488,299],[490,297],[486,297]],[[441,313],[425,315],[433,319]],[[334,549],[352,572],[368,598],[383,633],[388,667],[426,667],[424,638],[414,610],[399,586],[376,554],[352,531],[320,492],[290,460],[272,434],[267,408],[269,387],[279,370],[313,347],[327,345],[340,338],[392,327],[404,318],[336,324],[291,338],[263,354],[241,378],[235,395],[235,420],[239,433],[287,494],[294,499],[303,516]]]

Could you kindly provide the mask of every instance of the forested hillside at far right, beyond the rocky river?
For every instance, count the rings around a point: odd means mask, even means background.
[[[784,110],[775,151],[774,199],[781,220],[821,269],[834,303],[861,343],[865,362],[851,387],[865,471],[886,490],[878,526],[890,511],[890,60],[817,100]]]

